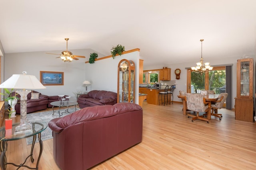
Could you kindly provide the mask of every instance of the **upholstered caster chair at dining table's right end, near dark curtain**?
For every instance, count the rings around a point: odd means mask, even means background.
[[[218,96],[218,99],[211,103],[211,115],[218,117],[220,120],[222,119],[222,114],[218,113],[218,109],[221,109],[228,97],[227,93],[221,93]],[[206,115],[206,114],[204,114]]]

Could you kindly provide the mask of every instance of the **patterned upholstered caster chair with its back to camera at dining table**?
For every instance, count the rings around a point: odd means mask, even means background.
[[[204,118],[204,115],[199,115],[199,112],[208,112],[210,111],[210,102],[206,102],[202,94],[186,94],[186,105],[187,109],[190,111],[196,112],[196,115],[188,114],[188,117],[192,117],[192,122],[196,119],[204,120],[209,123],[209,120]]]

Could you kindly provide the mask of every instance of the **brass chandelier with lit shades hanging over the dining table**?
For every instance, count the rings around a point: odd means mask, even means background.
[[[200,41],[201,41],[201,59],[199,63],[196,63],[197,66],[191,67],[191,69],[193,72],[203,74],[211,71],[213,67],[210,66],[210,63],[204,63],[204,59],[202,57],[202,49],[203,49],[202,47],[203,47],[204,40],[200,39]]]

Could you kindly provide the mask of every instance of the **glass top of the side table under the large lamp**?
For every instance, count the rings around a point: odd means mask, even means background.
[[[41,133],[46,129],[48,126],[46,122],[32,122],[32,131],[24,132],[24,133],[19,133],[14,135],[15,127],[20,125],[20,122],[12,124],[12,135],[9,137],[6,137],[6,131],[5,131],[5,126],[0,127],[0,140],[2,141],[13,141],[13,140],[18,140],[18,139],[23,139],[26,137],[31,137],[34,136],[38,133]]]

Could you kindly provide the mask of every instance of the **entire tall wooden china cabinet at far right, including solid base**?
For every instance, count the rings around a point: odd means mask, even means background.
[[[253,59],[237,60],[236,120],[253,121]]]

